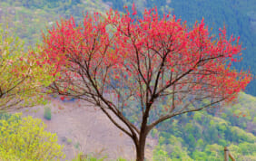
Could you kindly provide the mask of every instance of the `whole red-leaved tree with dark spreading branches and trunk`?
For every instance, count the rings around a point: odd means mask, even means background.
[[[87,15],[81,24],[63,20],[44,35],[43,48],[58,71],[51,89],[101,109],[133,139],[137,161],[156,125],[229,102],[251,80],[231,68],[239,39],[225,29],[212,37],[203,21],[188,28],[175,16],[160,18],[156,8],[142,18],[133,8]]]

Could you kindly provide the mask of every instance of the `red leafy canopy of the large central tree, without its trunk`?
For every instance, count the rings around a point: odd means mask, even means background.
[[[109,84],[113,78],[122,81],[123,87],[133,86],[135,97],[147,93],[140,91],[143,83],[154,95],[175,85],[177,92],[190,87],[192,93],[203,90],[231,100],[251,80],[250,74],[231,70],[241,45],[239,38],[228,40],[225,29],[214,38],[203,20],[189,29],[174,15],[160,18],[156,8],[145,10],[143,18],[136,19],[133,11],[132,16],[128,11],[120,15],[113,10],[106,17],[87,15],[79,25],[72,17],[49,30],[44,36],[44,56],[65,73],[65,87],[74,76],[81,78],[79,65],[87,66],[88,74],[97,80]],[[106,72],[111,74],[104,78]]]

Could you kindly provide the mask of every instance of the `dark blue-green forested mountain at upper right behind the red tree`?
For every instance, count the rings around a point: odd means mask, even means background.
[[[243,60],[233,63],[238,70],[251,69],[256,75],[256,1],[255,0],[103,0],[114,9],[123,11],[123,5],[132,6],[143,13],[144,7],[157,6],[160,14],[175,14],[176,17],[192,25],[204,18],[205,24],[218,35],[219,28],[225,25],[228,35],[241,37]],[[131,7],[130,7],[131,8]],[[251,81],[246,90],[256,96],[256,80]]]

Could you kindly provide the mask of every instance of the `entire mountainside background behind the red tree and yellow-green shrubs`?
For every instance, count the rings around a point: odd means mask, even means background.
[[[83,13],[103,12],[110,7],[123,12],[123,5],[133,5],[132,0],[1,0],[0,24],[14,31],[25,41],[25,46],[40,43],[41,35],[55,21],[71,14],[82,20]],[[171,12],[187,20],[191,25],[204,17],[205,23],[213,27],[212,34],[226,25],[228,34],[241,35],[243,61],[234,67],[241,70],[251,68],[256,75],[256,24],[255,1],[225,0],[138,0],[135,2],[139,14],[144,7],[157,6],[160,14]],[[241,160],[256,160],[256,80],[241,93],[233,105],[188,113],[163,122],[153,129],[147,139],[146,158],[149,160],[222,160],[223,147]],[[96,157],[119,156],[134,158],[133,142],[106,118],[99,110],[78,100],[66,102],[52,99],[46,105],[52,109],[52,119],[44,119],[44,107],[23,109],[25,115],[42,118],[48,130],[56,133],[59,143],[64,145],[68,160],[79,152]],[[207,101],[207,100],[205,100]],[[161,107],[160,107],[161,108]],[[129,116],[133,119],[132,113]]]

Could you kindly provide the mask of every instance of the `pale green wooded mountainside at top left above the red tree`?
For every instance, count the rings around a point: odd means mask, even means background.
[[[45,26],[50,27],[60,16],[73,15],[82,20],[84,12],[103,12],[106,7],[101,1],[91,0],[1,0],[0,22],[14,27],[12,31],[29,45],[38,43],[41,31],[46,32]]]

